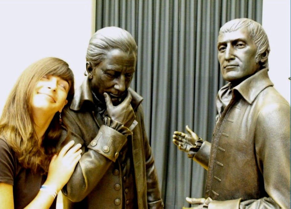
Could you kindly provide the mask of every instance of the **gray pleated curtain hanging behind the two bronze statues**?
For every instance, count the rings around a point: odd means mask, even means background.
[[[97,0],[96,30],[117,26],[138,45],[131,87],[142,102],[166,209],[203,197],[206,171],[172,143],[189,125],[211,141],[215,97],[225,82],[217,60],[219,28],[234,18],[261,23],[263,0]]]

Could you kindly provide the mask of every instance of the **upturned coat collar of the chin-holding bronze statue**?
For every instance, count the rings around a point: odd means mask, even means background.
[[[128,88],[128,91],[132,96],[132,100],[130,103],[132,105],[133,110],[135,110],[141,104],[143,98],[139,94],[137,94],[137,92],[135,92],[132,88]],[[76,90],[70,109],[79,111],[84,105],[86,105],[86,108],[90,109],[92,108],[92,110],[95,106],[93,102],[91,84],[88,77]]]

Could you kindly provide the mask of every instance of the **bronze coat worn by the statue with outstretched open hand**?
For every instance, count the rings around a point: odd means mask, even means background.
[[[201,148],[194,160],[208,169],[206,196],[218,200],[209,208],[290,208],[290,105],[267,69],[233,88]]]

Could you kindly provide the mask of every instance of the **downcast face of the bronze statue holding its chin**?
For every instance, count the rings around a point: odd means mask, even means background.
[[[113,105],[119,104],[126,96],[133,78],[136,55],[119,49],[112,50],[108,56],[92,70],[92,91],[104,101],[104,92],[111,97]]]

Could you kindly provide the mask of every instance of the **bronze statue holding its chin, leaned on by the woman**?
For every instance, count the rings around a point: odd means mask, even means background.
[[[121,28],[102,28],[90,39],[86,60],[88,76],[63,111],[70,139],[83,150],[62,190],[64,208],[163,208],[143,98],[129,88],[135,40]]]

